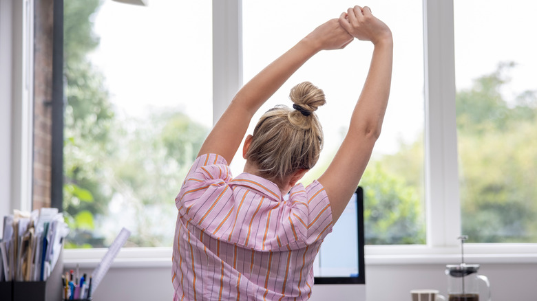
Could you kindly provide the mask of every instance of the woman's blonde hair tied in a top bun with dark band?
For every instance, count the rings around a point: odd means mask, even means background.
[[[313,168],[323,146],[322,126],[313,113],[326,103],[322,89],[302,82],[291,89],[289,98],[296,109],[279,105],[264,113],[246,152],[260,176],[278,186],[293,172]]]

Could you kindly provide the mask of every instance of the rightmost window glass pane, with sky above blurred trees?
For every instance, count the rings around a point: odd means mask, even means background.
[[[534,1],[454,1],[463,234],[537,240]]]

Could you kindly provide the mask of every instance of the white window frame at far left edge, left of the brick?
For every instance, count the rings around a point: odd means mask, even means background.
[[[34,0],[0,0],[1,216],[32,208],[33,41]]]

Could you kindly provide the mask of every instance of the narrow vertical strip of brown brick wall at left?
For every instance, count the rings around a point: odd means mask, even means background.
[[[34,1],[33,209],[50,207],[53,0]]]

